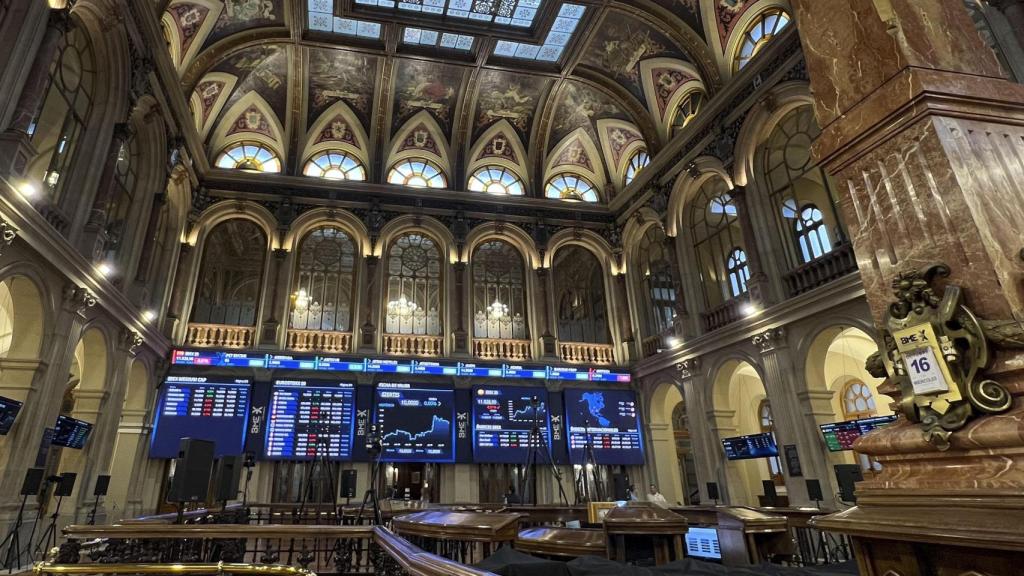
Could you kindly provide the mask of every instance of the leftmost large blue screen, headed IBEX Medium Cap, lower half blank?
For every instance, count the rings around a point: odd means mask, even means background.
[[[244,451],[249,415],[249,380],[168,376],[150,441],[151,458],[176,458],[182,438],[209,440],[215,455]]]

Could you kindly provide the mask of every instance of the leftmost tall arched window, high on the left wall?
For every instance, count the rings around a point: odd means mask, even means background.
[[[39,114],[29,125],[32,146],[39,153],[28,175],[42,181],[58,202],[79,138],[92,113],[96,65],[92,44],[82,26],[60,39],[50,67],[49,87]]]

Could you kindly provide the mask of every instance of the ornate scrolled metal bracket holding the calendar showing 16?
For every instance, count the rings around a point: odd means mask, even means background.
[[[872,355],[866,366],[872,375],[889,376],[899,388],[899,410],[919,422],[939,450],[947,450],[949,436],[978,413],[1005,412],[1012,403],[1010,393],[981,372],[989,362],[993,326],[1006,331],[1016,323],[983,325],[964,305],[958,286],[946,285],[937,294],[933,282],[948,276],[949,266],[937,263],[893,279],[896,301],[889,305],[883,331],[885,354]],[[999,335],[1006,343],[1015,340],[1005,332]]]

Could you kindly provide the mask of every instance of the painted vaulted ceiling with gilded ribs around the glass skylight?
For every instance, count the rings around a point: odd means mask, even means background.
[[[607,201],[684,94],[731,75],[755,4],[779,2],[172,0],[162,23],[211,164],[253,141],[299,175],[339,150],[383,182],[423,157],[452,190],[501,165],[528,196],[572,171]]]

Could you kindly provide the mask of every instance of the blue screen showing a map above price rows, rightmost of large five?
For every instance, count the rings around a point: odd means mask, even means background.
[[[565,389],[569,460],[609,465],[643,464],[640,415],[633,390]]]

